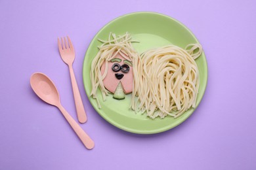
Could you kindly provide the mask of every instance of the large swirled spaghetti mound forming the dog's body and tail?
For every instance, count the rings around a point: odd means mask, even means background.
[[[167,115],[177,118],[195,107],[199,71],[194,59],[202,54],[202,46],[189,44],[185,49],[168,45],[140,55],[140,61],[133,63],[137,76],[131,109],[154,119]]]

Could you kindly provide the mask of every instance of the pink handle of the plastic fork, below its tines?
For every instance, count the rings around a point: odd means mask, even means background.
[[[70,69],[70,78],[72,82],[72,89],[75,99],[75,109],[77,112],[77,118],[80,123],[85,123],[87,121],[87,116],[85,113],[85,109],[83,107],[83,102],[81,99],[81,95],[77,86],[77,82],[75,80],[75,74],[72,65],[68,65],[68,68]]]

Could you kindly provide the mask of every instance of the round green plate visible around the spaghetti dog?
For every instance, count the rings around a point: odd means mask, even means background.
[[[187,44],[198,42],[192,32],[182,25],[181,22],[163,14],[135,12],[120,16],[98,31],[85,54],[83,82],[88,97],[91,92],[89,75],[91,62],[98,52],[97,46],[100,45],[97,39],[107,39],[110,32],[116,33],[116,35],[123,35],[125,32],[131,33],[133,40],[140,42],[133,44],[138,52],[167,44],[175,44],[184,48]],[[196,101],[196,107],[198,107],[207,84],[207,62],[205,54],[202,54],[202,56],[196,59],[196,63],[200,71],[200,88]],[[194,109],[190,109],[184,112],[179,118],[167,116],[164,119],[156,118],[152,120],[146,114],[135,114],[133,110],[129,109],[131,94],[126,95],[125,99],[120,101],[112,97],[112,94],[108,95],[106,101],[102,101],[102,95],[98,90],[98,99],[100,100],[102,109],[98,109],[96,101],[92,97],[89,97],[89,101],[98,114],[110,122],[110,124],[132,133],[152,134],[167,131],[184,122],[194,112]]]

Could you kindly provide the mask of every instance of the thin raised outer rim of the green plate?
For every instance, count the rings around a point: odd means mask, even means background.
[[[181,22],[179,22],[179,20],[176,20],[175,18],[172,18],[171,16],[167,16],[165,14],[161,14],[159,12],[131,12],[131,13],[128,13],[128,14],[123,14],[121,16],[118,16],[117,18],[114,18],[113,20],[111,20],[110,22],[108,22],[107,24],[105,24],[103,27],[100,28],[100,30],[95,34],[95,36],[93,37],[93,39],[91,40],[86,52],[85,52],[85,56],[84,56],[84,60],[83,60],[83,86],[85,88],[85,92],[87,94],[87,97],[89,99],[89,102],[91,103],[91,97],[89,96],[90,95],[90,92],[87,92],[87,88],[85,86],[85,65],[86,65],[86,56],[87,56],[87,52],[88,50],[91,48],[91,46],[93,45],[92,42],[95,42],[96,41],[96,37],[98,37],[98,34],[100,34],[101,31],[104,30],[105,27],[108,27],[108,25],[112,24],[112,22],[115,22],[116,20],[119,20],[121,18],[124,18],[124,17],[127,17],[127,16],[130,16],[130,15],[136,15],[136,14],[156,14],[156,15],[159,15],[159,16],[163,16],[163,17],[166,17],[170,20],[173,20],[175,22],[177,22],[179,25],[181,25],[182,27],[184,27],[184,29],[186,29],[186,31],[188,31],[190,33],[190,35],[192,35],[192,37],[194,37],[194,39],[200,43],[198,41],[198,39],[196,38],[196,36],[194,35],[194,33],[192,33],[192,31],[190,31],[190,29],[188,29],[188,27],[186,27],[186,25],[182,24]],[[205,56],[205,53],[204,53],[204,50],[203,50],[203,54]],[[112,124],[114,127],[117,127],[119,129],[122,129],[124,131],[128,131],[130,133],[137,133],[137,134],[155,134],[155,133],[161,133],[163,131],[168,131],[169,129],[173,129],[174,127],[177,127],[179,126],[179,124],[181,124],[182,122],[184,122],[186,119],[188,119],[192,113],[197,109],[197,107],[200,105],[204,95],[205,95],[205,90],[207,88],[207,82],[208,82],[208,65],[207,65],[207,59],[206,59],[206,56],[205,56],[205,69],[206,69],[206,73],[205,73],[205,88],[203,88],[203,92],[202,92],[202,98],[199,99],[198,101],[198,105],[196,105],[196,107],[194,108],[194,110],[188,114],[188,116],[184,117],[184,120],[180,121],[180,122],[174,122],[173,124],[171,124],[171,126],[164,126],[164,127],[160,127],[160,128],[157,128],[157,129],[154,129],[154,130],[147,130],[147,131],[143,131],[143,130],[137,130],[137,129],[131,129],[130,127],[127,127],[127,126],[123,126],[121,124],[119,124],[118,122],[115,122],[115,121],[112,121],[110,117],[107,118],[107,116],[105,116],[104,114],[101,114],[101,109],[98,109],[98,107],[96,105],[93,105],[91,103],[91,105],[93,106],[93,108],[96,110],[96,112],[102,117],[104,118],[104,120],[106,120],[106,122]]]

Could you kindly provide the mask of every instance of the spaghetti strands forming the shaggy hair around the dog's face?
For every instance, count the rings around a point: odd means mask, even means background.
[[[133,62],[133,59],[139,58],[139,54],[137,54],[131,45],[133,41],[131,41],[131,35],[129,35],[129,33],[125,33],[125,35],[119,37],[117,37],[114,33],[110,33],[107,41],[100,39],[98,41],[102,42],[102,44],[98,47],[99,51],[91,63],[90,78],[92,90],[90,96],[96,99],[98,108],[101,108],[96,91],[98,88],[100,89],[103,101],[105,101],[106,95],[108,95],[109,92],[104,87],[103,80],[108,71],[108,62],[115,58],[117,54],[120,54],[123,58]],[[100,68],[105,61],[106,67],[104,74],[102,75]]]

